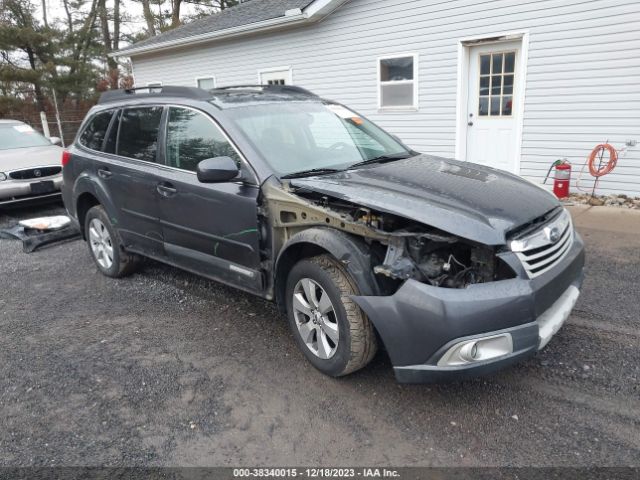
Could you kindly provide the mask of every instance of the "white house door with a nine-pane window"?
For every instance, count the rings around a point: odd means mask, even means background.
[[[471,47],[466,160],[516,172],[520,42]]]

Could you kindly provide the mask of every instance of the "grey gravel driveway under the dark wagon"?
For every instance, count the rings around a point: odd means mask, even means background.
[[[0,226],[59,207],[0,211]],[[0,240],[0,465],[640,465],[640,225],[582,227],[588,277],[536,357],[398,385],[385,355],[334,380],[273,305],[85,244]]]

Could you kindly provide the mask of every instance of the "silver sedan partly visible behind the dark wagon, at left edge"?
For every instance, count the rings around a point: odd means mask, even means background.
[[[17,120],[0,120],[0,207],[60,196],[60,139]]]

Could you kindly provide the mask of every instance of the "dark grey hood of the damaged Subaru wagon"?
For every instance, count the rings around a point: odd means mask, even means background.
[[[510,230],[560,205],[516,175],[430,155],[292,179],[291,185],[486,245],[504,244]]]

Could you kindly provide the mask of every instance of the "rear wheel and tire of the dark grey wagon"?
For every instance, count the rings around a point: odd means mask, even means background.
[[[120,235],[101,205],[87,212],[84,231],[91,258],[103,275],[121,278],[133,273],[139,258],[124,250]]]

